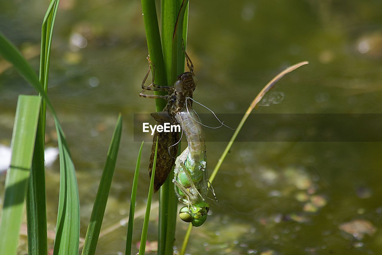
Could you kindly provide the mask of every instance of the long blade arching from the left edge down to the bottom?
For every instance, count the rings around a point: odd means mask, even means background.
[[[76,254],[79,244],[79,198],[74,164],[57,114],[36,73],[16,47],[0,32],[0,55],[34,87],[52,112],[60,153],[60,196],[58,201],[57,231],[53,254]]]

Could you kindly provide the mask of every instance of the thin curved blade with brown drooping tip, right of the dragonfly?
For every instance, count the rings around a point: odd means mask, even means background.
[[[227,156],[228,151],[231,149],[231,146],[232,146],[233,142],[235,142],[235,139],[238,136],[238,134],[239,134],[241,128],[243,127],[245,121],[249,117],[249,114],[253,111],[254,108],[256,108],[257,104],[264,97],[265,93],[267,93],[270,89],[272,89],[274,87],[274,85],[276,84],[276,82],[278,82],[278,80],[280,80],[284,75],[286,75],[286,74],[292,72],[293,70],[296,70],[297,68],[299,68],[299,67],[301,67],[303,65],[306,65],[306,64],[309,64],[309,62],[307,62],[307,61],[300,62],[300,63],[297,63],[295,65],[292,65],[292,66],[286,68],[285,70],[280,72],[280,74],[276,75],[272,80],[270,80],[270,82],[268,82],[267,85],[265,85],[265,87],[262,88],[262,90],[259,92],[259,94],[257,94],[257,96],[252,101],[251,105],[249,105],[246,113],[244,113],[244,116],[241,119],[238,127],[236,127],[236,130],[233,133],[230,141],[228,142],[227,147],[225,147],[222,155],[220,156],[220,159],[218,160],[218,162],[217,162],[217,164],[216,164],[216,166],[214,168],[214,171],[210,175],[210,178],[209,178],[210,183],[212,183],[212,181],[214,181],[214,178],[217,175],[217,172],[219,171],[220,166],[222,165],[225,157]],[[183,240],[183,245],[182,245],[182,248],[181,248],[181,251],[180,251],[180,255],[184,255],[185,252],[186,252],[186,247],[187,247],[187,244],[188,244],[188,240],[189,240],[189,237],[190,237],[190,234],[191,234],[192,227],[193,226],[191,224],[188,226],[187,234],[185,236],[185,239]]]

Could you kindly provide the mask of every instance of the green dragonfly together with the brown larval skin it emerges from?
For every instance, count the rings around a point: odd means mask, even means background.
[[[180,218],[185,222],[191,222],[193,226],[201,226],[206,221],[209,205],[205,198],[208,191],[207,179],[207,162],[206,162],[206,145],[204,132],[201,126],[199,116],[192,109],[192,96],[197,85],[197,79],[194,75],[194,66],[187,55],[184,47],[183,52],[186,56],[189,72],[185,72],[178,76],[174,86],[160,86],[154,83],[155,66],[150,61],[149,70],[142,82],[143,91],[139,96],[147,98],[163,98],[167,101],[167,105],[162,112],[152,113],[151,115],[158,123],[179,123],[187,138],[188,147],[176,159],[174,168],[174,179],[172,180],[175,187],[175,193],[179,201],[186,206],[181,208],[179,212]],[[152,66],[152,83],[149,86],[144,86]],[[165,90],[168,95],[146,95],[145,90],[160,91]],[[165,182],[168,174],[171,171],[174,163],[173,155],[177,151],[178,134],[171,132],[159,133],[156,132],[152,145],[151,162],[149,172],[151,176],[152,165],[155,152],[156,137],[159,137],[158,154],[161,160],[157,160],[155,171],[155,191]],[[166,150],[168,148],[168,150]],[[174,153],[175,152],[175,153]],[[157,174],[158,173],[158,174]],[[215,197],[213,188],[211,191]],[[215,200],[217,201],[216,197]]]

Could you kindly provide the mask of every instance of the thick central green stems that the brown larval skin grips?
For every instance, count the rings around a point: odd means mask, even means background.
[[[150,59],[155,65],[155,83],[173,85],[176,77],[184,72],[185,57],[182,52],[182,39],[186,43],[188,0],[161,1],[162,38],[160,38],[159,34],[155,2],[142,0],[142,13]],[[186,19],[184,19],[185,16]],[[175,26],[177,21],[178,26]],[[174,28],[176,28],[175,31]],[[163,77],[158,77],[158,75],[163,75]],[[163,100],[155,101],[156,111],[163,110],[165,102],[163,104],[162,102]],[[170,173],[159,193],[158,254],[170,254],[173,250],[177,199],[173,192],[172,178],[173,172]],[[167,240],[170,240],[170,242],[167,242]]]

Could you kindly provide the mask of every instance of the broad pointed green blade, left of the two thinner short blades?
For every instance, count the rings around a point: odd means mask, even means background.
[[[104,172],[99,183],[97,196],[95,197],[92,214],[90,217],[89,226],[85,236],[83,255],[93,255],[97,247],[99,232],[104,219],[107,198],[109,196],[110,186],[113,180],[115,163],[117,162],[118,149],[121,141],[122,119],[118,116],[117,124],[115,125],[112,141],[107,152]]]

